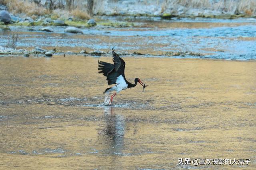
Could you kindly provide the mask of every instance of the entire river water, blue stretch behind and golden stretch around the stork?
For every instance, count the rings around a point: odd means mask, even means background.
[[[123,57],[128,81],[148,87],[120,92],[112,106],[103,104],[109,86],[97,69],[110,54],[2,55],[0,169],[255,169],[256,20],[134,22],[81,28],[84,35],[0,31],[0,45],[18,33],[18,49],[148,54]],[[194,166],[179,158],[251,162]]]

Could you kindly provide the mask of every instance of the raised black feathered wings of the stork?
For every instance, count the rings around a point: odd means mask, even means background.
[[[118,76],[122,74],[124,76],[124,68],[125,68],[125,62],[123,59],[121,59],[112,49],[113,54],[113,62],[114,64],[106,63],[103,61],[98,61],[99,67],[99,73],[103,73],[104,76],[107,77],[108,84],[116,84],[116,79]]]

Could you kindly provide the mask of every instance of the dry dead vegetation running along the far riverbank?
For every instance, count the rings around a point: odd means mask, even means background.
[[[90,2],[91,1],[92,0],[90,0]],[[54,0],[48,2],[54,2]],[[89,0],[66,0],[65,2],[66,3],[62,3],[59,1],[55,5],[52,3],[49,7],[42,6],[40,3],[35,3],[33,0],[0,0],[0,4],[6,5],[8,11],[12,14],[24,14],[30,17],[34,16],[35,18],[36,16],[52,15],[57,13],[59,16],[63,16],[65,14],[72,15],[78,20],[90,19],[90,15],[88,15],[87,12],[89,10],[87,8],[87,2],[89,2]],[[123,10],[116,9],[115,3],[117,4],[117,1],[113,1],[111,3],[114,4],[113,14],[115,14],[115,10]],[[94,14],[99,13],[99,10],[104,14],[105,8],[112,8],[106,6],[106,4],[110,4],[107,0],[93,0],[93,4]],[[135,2],[135,4],[138,4],[139,7],[143,7],[141,5],[150,6],[155,4],[158,6],[161,14],[167,13],[185,17],[194,16],[197,12],[197,15],[202,17],[208,15],[209,12],[214,16],[226,14],[256,16],[256,0],[145,0],[143,2]],[[137,10],[134,11],[134,15],[136,15],[136,12],[140,14],[140,10]],[[152,15],[153,13],[154,12],[152,12]],[[119,13],[116,12],[116,14]],[[125,15],[124,13],[120,14]]]

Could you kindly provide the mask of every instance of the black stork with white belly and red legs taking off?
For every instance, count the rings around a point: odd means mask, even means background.
[[[105,92],[103,92],[103,94],[105,94],[106,92],[108,93],[108,92],[116,91],[110,97],[109,105],[112,104],[112,100],[117,93],[127,88],[135,87],[137,85],[137,82],[139,82],[143,86],[143,89],[146,87],[146,85],[143,84],[139,78],[134,79],[134,84],[128,82],[124,76],[124,68],[125,68],[124,60],[121,59],[121,57],[119,57],[119,55],[115,53],[114,49],[112,49],[112,54],[113,54],[114,64],[106,63],[104,61],[98,61],[99,73],[103,73],[103,75],[107,77],[108,85],[116,84],[113,87],[107,88]]]

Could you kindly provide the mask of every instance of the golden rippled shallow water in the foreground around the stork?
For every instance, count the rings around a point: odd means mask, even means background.
[[[124,59],[128,81],[149,86],[104,106],[98,58],[1,57],[0,169],[254,169],[255,61]]]

